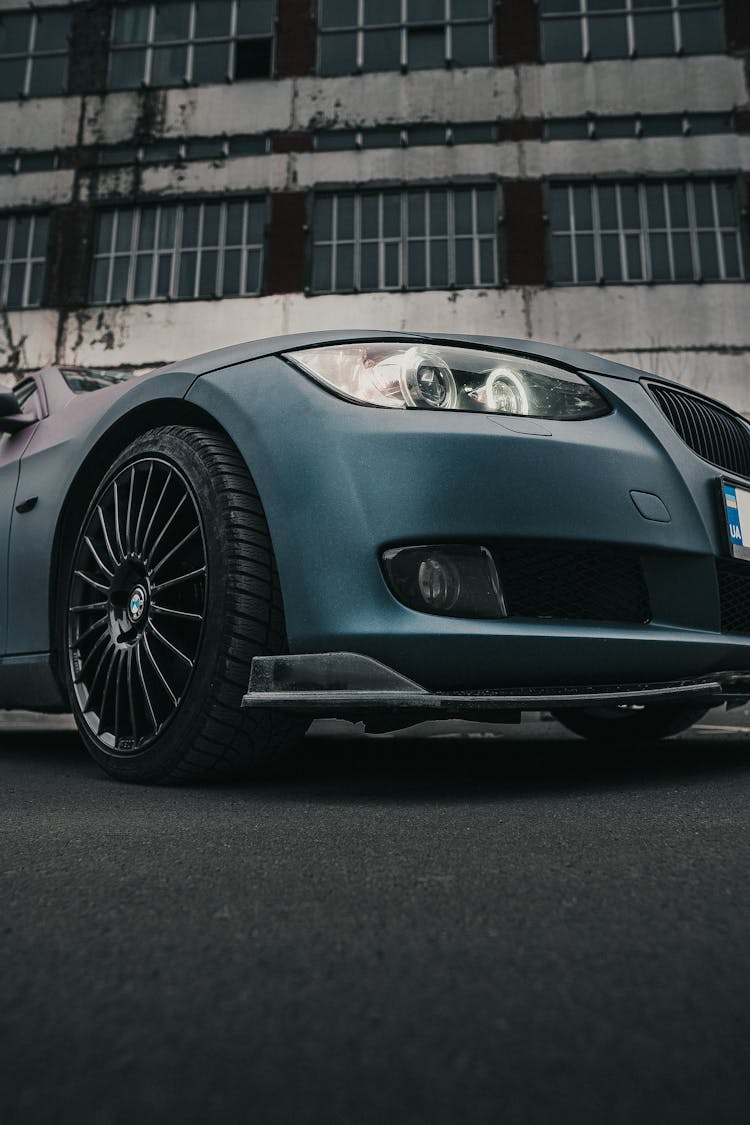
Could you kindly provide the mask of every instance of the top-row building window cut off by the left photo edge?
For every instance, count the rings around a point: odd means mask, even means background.
[[[69,11],[0,14],[0,98],[65,92],[70,26]]]

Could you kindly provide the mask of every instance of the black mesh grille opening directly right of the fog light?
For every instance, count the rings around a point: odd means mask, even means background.
[[[640,558],[626,549],[505,541],[493,554],[508,616],[631,623],[651,616]]]

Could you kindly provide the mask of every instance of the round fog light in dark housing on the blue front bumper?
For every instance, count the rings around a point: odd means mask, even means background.
[[[451,618],[504,618],[495,560],[486,547],[462,543],[383,551],[388,584],[399,602]]]

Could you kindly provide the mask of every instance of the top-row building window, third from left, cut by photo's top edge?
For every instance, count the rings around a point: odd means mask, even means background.
[[[319,0],[320,74],[494,62],[491,0]]]

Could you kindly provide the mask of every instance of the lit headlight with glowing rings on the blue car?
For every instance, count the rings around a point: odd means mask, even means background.
[[[345,398],[369,406],[559,420],[609,412],[580,375],[504,352],[361,343],[306,348],[287,352],[284,359]]]

